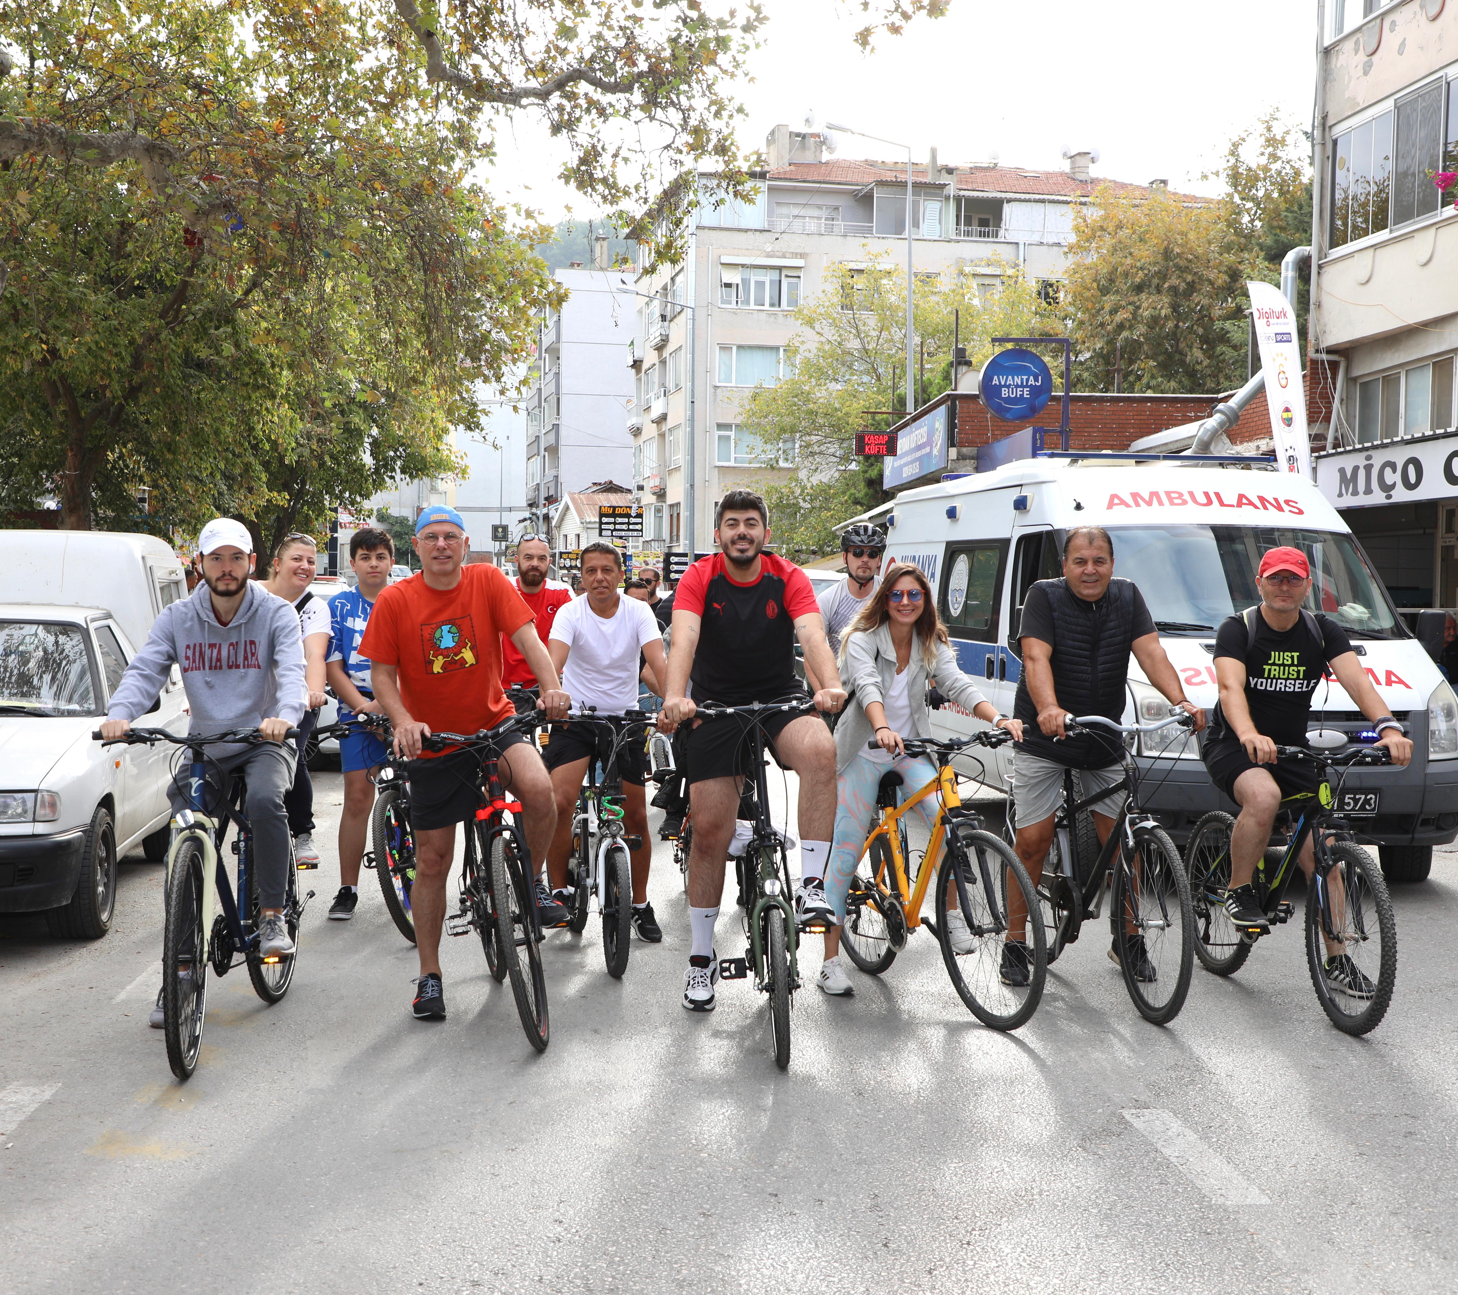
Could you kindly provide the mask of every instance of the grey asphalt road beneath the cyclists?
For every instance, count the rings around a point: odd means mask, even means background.
[[[882,979],[851,969],[853,999],[798,993],[780,1074],[746,982],[712,1015],[678,1005],[665,845],[666,940],[621,982],[592,925],[550,937],[545,1055],[474,937],[443,950],[449,1020],[414,1021],[373,875],[353,922],[325,921],[341,779],[316,788],[293,989],[270,1008],[241,969],[214,982],[187,1084],[146,1026],[160,867],[127,862],[95,944],[0,919],[0,1289],[1458,1285],[1458,854],[1397,893],[1397,996],[1365,1040],[1321,1014],[1295,925],[1231,980],[1197,967],[1156,1028],[1095,924],[1012,1036],[968,1015],[921,932]]]

